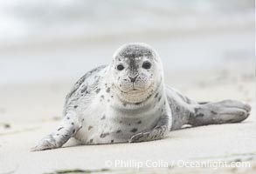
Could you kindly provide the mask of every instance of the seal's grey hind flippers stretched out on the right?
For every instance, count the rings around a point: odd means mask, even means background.
[[[250,115],[250,111],[250,105],[236,100],[199,104],[195,107],[195,112],[190,114],[188,124],[200,126],[239,123]]]

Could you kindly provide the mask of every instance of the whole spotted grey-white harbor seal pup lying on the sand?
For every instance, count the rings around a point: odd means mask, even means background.
[[[164,84],[163,65],[145,43],[127,43],[112,63],[86,73],[66,97],[58,129],[34,151],[61,147],[71,138],[81,144],[159,140],[184,124],[238,123],[251,107],[235,100],[197,103]]]

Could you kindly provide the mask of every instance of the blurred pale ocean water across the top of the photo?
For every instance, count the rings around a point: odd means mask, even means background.
[[[10,0],[0,2],[0,46],[145,31],[246,27],[253,0]]]

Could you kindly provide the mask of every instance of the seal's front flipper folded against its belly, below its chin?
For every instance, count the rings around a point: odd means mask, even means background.
[[[170,130],[170,117],[161,117],[159,123],[152,131],[145,131],[135,134],[129,139],[129,143],[140,143],[163,139]]]

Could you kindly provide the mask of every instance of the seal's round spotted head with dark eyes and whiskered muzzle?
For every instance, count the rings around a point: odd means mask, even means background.
[[[156,50],[145,43],[127,43],[114,53],[111,64],[114,89],[124,102],[142,103],[163,81],[163,68]]]

